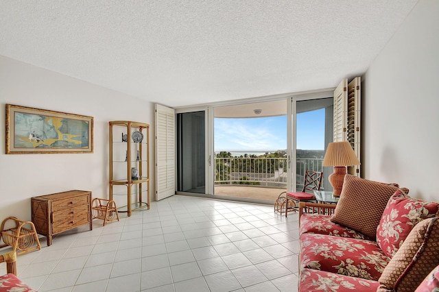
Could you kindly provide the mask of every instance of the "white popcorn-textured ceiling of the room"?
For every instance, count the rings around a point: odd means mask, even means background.
[[[172,107],[362,75],[418,0],[0,0],[0,55]]]

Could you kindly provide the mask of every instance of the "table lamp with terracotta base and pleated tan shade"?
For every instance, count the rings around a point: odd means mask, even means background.
[[[340,193],[342,193],[346,167],[359,164],[360,162],[348,141],[329,143],[322,166],[334,167],[334,172],[328,177],[334,189],[334,197],[340,197]]]

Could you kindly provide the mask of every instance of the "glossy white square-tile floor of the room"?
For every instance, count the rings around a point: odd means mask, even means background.
[[[174,195],[122,217],[43,237],[19,278],[38,291],[297,291],[296,214]]]

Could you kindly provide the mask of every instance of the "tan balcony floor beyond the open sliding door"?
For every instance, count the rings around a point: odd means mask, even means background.
[[[280,193],[285,191],[282,188],[261,188],[258,186],[234,186],[234,185],[217,185],[215,186],[215,195],[224,195],[228,197],[244,197],[249,199],[265,199],[276,201]]]

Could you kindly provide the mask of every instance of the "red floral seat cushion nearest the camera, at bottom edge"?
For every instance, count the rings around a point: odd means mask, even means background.
[[[351,276],[318,271],[315,269],[302,269],[300,271],[299,291],[377,291],[379,282],[365,280]]]

